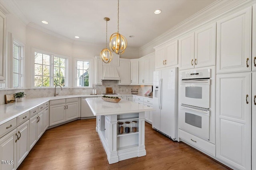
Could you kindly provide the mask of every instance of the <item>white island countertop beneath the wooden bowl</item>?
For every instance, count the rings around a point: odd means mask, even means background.
[[[121,99],[118,103],[106,102],[102,98],[87,98],[92,113],[97,115],[120,115],[125,113],[138,113],[143,111],[153,111],[155,109]]]

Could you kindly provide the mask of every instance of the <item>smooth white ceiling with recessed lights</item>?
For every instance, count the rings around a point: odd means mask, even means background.
[[[4,0],[7,1],[7,0]],[[119,33],[139,49],[216,0],[120,0]],[[73,41],[106,44],[117,31],[117,0],[12,0],[26,24],[34,23]],[[154,14],[154,10],[162,10]],[[48,21],[44,24],[41,21]],[[134,38],[130,38],[134,35]],[[79,36],[79,39],[74,38]]]

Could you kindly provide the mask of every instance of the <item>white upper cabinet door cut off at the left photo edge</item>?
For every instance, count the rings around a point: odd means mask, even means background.
[[[0,82],[5,81],[6,16],[0,11]]]

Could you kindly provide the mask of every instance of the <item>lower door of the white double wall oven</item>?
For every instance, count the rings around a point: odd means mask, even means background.
[[[179,128],[193,135],[209,140],[210,111],[180,106]]]

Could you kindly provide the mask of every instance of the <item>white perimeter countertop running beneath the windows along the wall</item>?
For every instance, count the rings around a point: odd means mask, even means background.
[[[140,95],[140,94],[136,94],[136,95],[135,94],[117,94],[115,96],[133,96],[133,95],[134,96],[142,96],[145,98],[147,98],[147,97],[152,98],[152,96],[144,96],[144,95]],[[63,99],[63,98],[76,98],[76,97],[95,97],[95,96],[100,97],[102,95],[101,94],[97,94],[97,95],[89,94],[89,95],[69,95],[69,96],[56,96],[56,97],[52,96],[52,97],[47,97],[47,98],[25,98],[23,102],[2,104],[2,105],[0,105],[0,125],[18,117],[19,115],[22,115],[23,113],[26,113],[27,111],[30,111],[31,109],[33,109],[45,102],[48,102],[50,100],[57,100],[57,99]],[[100,98],[100,100],[102,100],[102,99]],[[110,102],[108,102],[108,103],[110,103]]]

